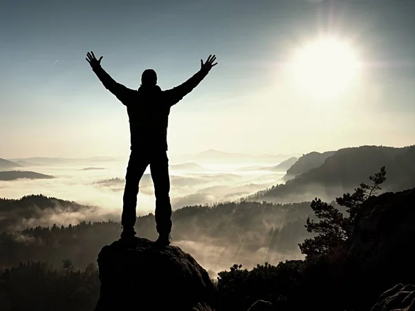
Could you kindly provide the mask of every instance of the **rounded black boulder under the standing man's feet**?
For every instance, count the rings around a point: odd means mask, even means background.
[[[100,299],[95,311],[208,311],[215,288],[208,272],[179,247],[122,239],[98,254]]]

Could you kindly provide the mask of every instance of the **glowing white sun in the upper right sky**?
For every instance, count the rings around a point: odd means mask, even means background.
[[[299,87],[323,99],[347,91],[358,75],[360,63],[348,44],[320,39],[299,48],[292,68]]]

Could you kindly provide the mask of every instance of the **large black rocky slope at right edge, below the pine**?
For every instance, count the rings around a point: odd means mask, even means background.
[[[385,290],[415,284],[413,245],[415,188],[369,198],[356,216],[353,236],[331,264],[330,296],[359,301],[356,310],[369,310]]]

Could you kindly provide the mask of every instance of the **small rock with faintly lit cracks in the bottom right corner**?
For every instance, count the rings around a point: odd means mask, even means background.
[[[371,311],[414,311],[415,285],[395,285],[380,295]]]

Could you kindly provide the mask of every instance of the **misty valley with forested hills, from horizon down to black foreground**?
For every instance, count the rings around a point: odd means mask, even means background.
[[[382,164],[389,173],[383,191],[415,187],[414,155],[415,147],[366,146],[239,158],[206,151],[180,159],[184,162],[171,160],[172,243],[215,273],[234,263],[252,268],[304,258],[298,244],[310,236],[304,225],[314,217],[311,200],[333,202]],[[70,259],[84,268],[95,263],[100,248],[120,236],[127,160],[3,160],[1,265],[38,260],[60,265]],[[157,238],[154,204],[147,169],[136,231],[151,240]]]

